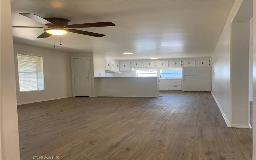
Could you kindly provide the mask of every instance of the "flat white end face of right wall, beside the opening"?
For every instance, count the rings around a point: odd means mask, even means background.
[[[232,22],[230,86],[232,124],[249,125],[250,22]]]

